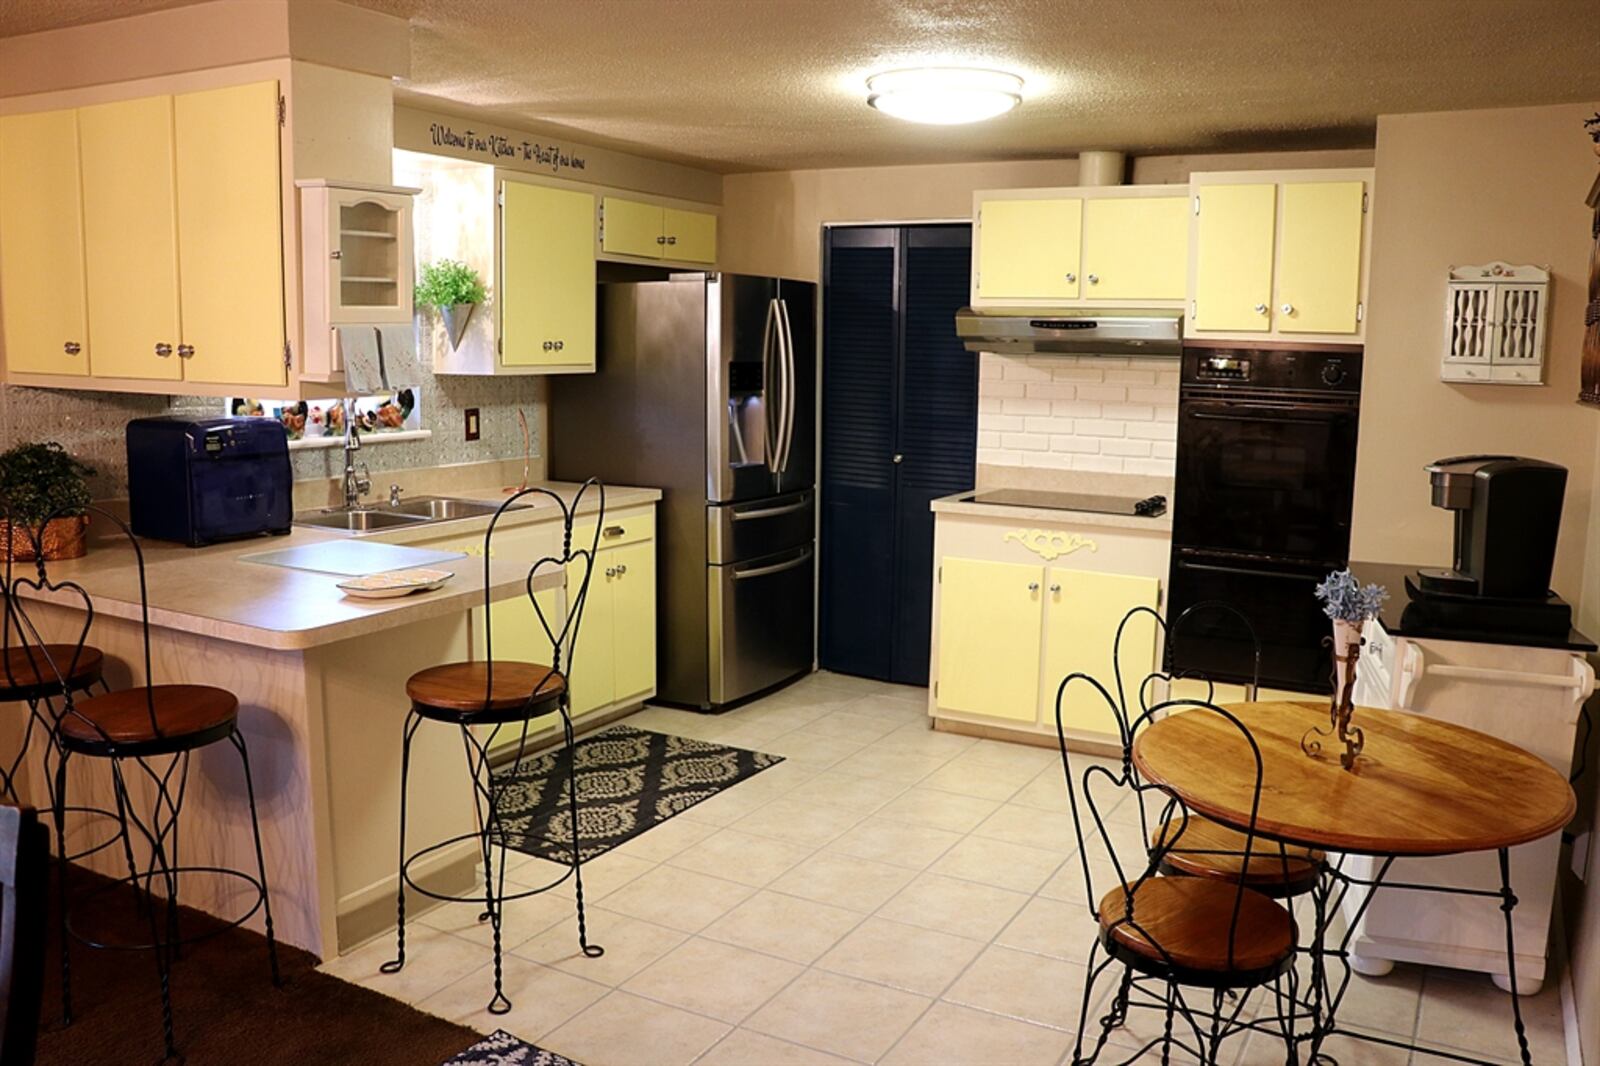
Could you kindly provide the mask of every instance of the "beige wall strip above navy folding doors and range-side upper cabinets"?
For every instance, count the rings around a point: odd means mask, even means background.
[[[1152,155],[1133,162],[1133,181],[1182,182],[1195,170],[1368,166],[1371,160],[1365,149]],[[728,174],[722,182],[720,266],[738,274],[818,280],[826,222],[971,218],[978,189],[1070,186],[1077,178],[1077,158]]]

